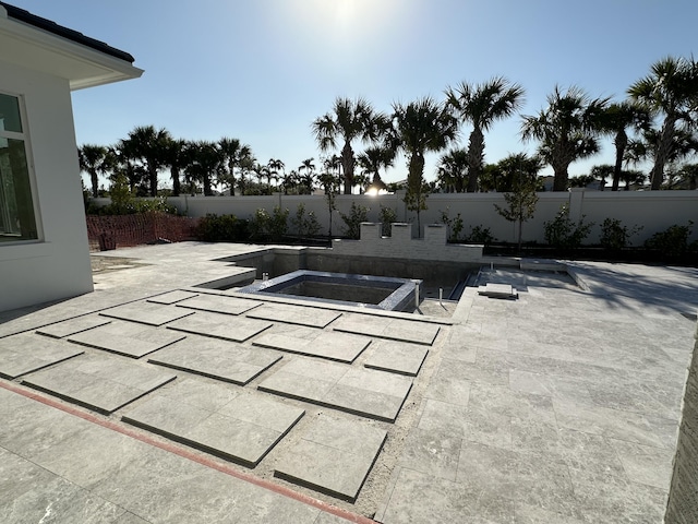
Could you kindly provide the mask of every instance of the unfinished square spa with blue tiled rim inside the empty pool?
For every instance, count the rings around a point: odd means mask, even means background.
[[[412,311],[414,288],[421,282],[389,276],[300,270],[237,290],[386,311]]]

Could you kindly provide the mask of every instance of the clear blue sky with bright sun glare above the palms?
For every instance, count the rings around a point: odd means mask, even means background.
[[[378,110],[504,75],[538,112],[555,84],[625,97],[655,60],[696,49],[695,0],[10,0],[125,50],[139,80],[73,93],[77,143],[112,144],[135,126],[189,140],[240,139],[287,170],[321,153],[311,122],[337,96]],[[485,162],[533,153],[520,118],[485,134]],[[467,145],[465,127],[460,144]],[[354,150],[360,151],[361,144]],[[611,164],[613,148],[570,166]],[[316,162],[317,163],[317,162]],[[437,156],[425,178],[435,178]],[[384,177],[405,178],[405,159]],[[545,172],[552,172],[550,168]]]

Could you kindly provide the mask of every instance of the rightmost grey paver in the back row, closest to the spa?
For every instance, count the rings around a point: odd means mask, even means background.
[[[431,346],[438,334],[438,325],[412,322],[402,319],[370,317],[368,314],[344,314],[332,325],[335,331],[358,333],[378,338],[412,342]]]

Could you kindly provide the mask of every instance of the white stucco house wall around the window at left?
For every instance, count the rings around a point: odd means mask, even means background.
[[[0,60],[0,92],[23,97],[40,238],[0,243],[0,311],[93,290],[69,82]]]

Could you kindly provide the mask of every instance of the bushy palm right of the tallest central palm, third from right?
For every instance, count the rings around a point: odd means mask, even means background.
[[[547,96],[547,108],[525,116],[521,136],[540,141],[539,154],[555,172],[553,191],[566,191],[567,168],[575,160],[599,151],[599,122],[609,98],[593,98],[579,87],[562,93],[558,86]]]

